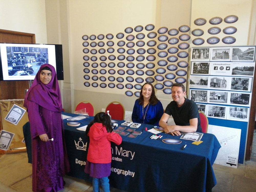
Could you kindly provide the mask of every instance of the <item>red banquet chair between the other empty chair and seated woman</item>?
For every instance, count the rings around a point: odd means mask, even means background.
[[[111,119],[116,119],[116,120],[124,120],[124,106],[117,102],[113,101],[108,104],[106,107],[105,113],[109,111],[109,114],[111,115]]]

